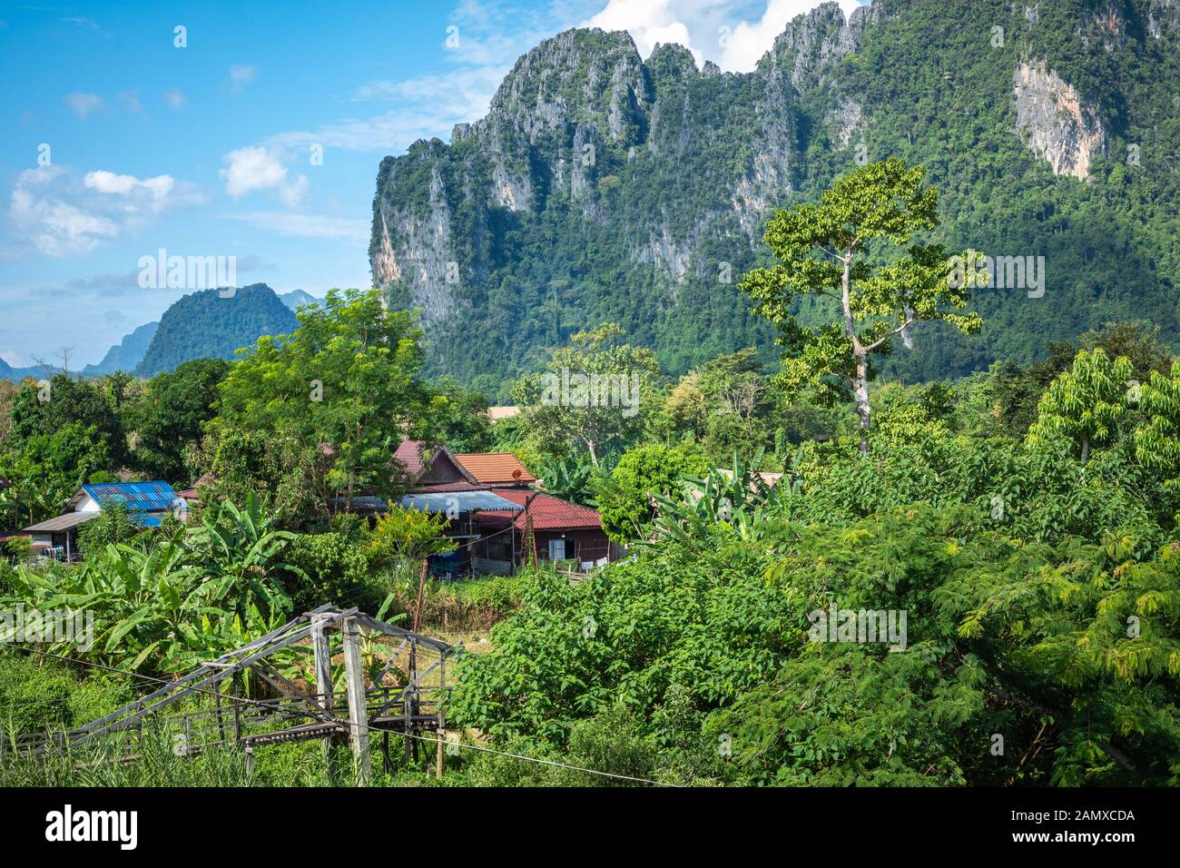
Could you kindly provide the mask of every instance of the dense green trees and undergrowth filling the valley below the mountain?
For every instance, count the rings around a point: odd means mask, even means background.
[[[86,609],[94,637],[0,652],[6,732],[94,719],[143,677],[332,602],[417,614],[470,648],[447,785],[1180,784],[1180,364],[1162,332],[1110,322],[1044,363],[922,385],[883,372],[863,452],[851,402],[824,400],[819,372],[785,390],[756,348],[670,377],[608,321],[513,389],[539,399],[570,360],[638,365],[634,415],[542,402],[490,425],[485,396],[424,374],[413,316],[375,292],[334,292],[299,322],[225,370],[54,378],[65,407],[33,381],[0,391],[13,527],[79,479],[150,478],[173,420],[173,481],[201,483],[183,523],[97,520],[81,563],[9,549],[0,609]],[[438,518],[340,509],[405,489],[402,436],[517,453],[596,503],[625,556],[572,582],[542,567],[420,586],[420,559],[451,544]],[[308,678],[294,651],[289,667]],[[235,750],[175,757],[168,735],[130,766],[6,752],[0,783],[326,783],[316,744],[260,752],[251,777]],[[379,783],[425,783],[428,762]]]

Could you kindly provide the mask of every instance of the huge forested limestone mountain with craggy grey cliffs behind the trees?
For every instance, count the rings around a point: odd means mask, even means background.
[[[569,31],[450,144],[381,162],[374,282],[425,309],[434,372],[491,394],[603,320],[674,373],[771,359],[736,289],[766,218],[897,155],[930,168],[951,249],[1044,256],[1045,281],[981,289],[979,335],[918,331],[892,373],[1028,363],[1113,319],[1175,344],[1178,47],[1176,0],[876,0],[848,21],[825,4],[747,74]]]

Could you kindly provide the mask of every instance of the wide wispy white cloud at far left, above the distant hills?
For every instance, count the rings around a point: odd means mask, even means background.
[[[79,178],[64,167],[40,167],[17,176],[8,217],[18,248],[68,256],[201,198],[196,187],[170,175],[139,180],[98,170]]]

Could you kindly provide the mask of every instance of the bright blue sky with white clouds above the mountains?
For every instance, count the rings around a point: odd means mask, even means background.
[[[240,285],[368,286],[381,157],[478,119],[539,40],[628,30],[644,57],[676,41],[743,71],[815,5],[5,0],[0,358],[97,363],[197,288],[140,288],[160,248],[234,256]]]

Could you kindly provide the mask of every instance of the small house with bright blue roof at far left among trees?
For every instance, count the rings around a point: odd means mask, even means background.
[[[78,528],[114,503],[126,505],[131,521],[142,528],[157,528],[168,513],[189,508],[166,482],[104,482],[83,485],[61,515],[32,524],[21,534],[32,537],[34,553],[74,561],[80,556]]]

